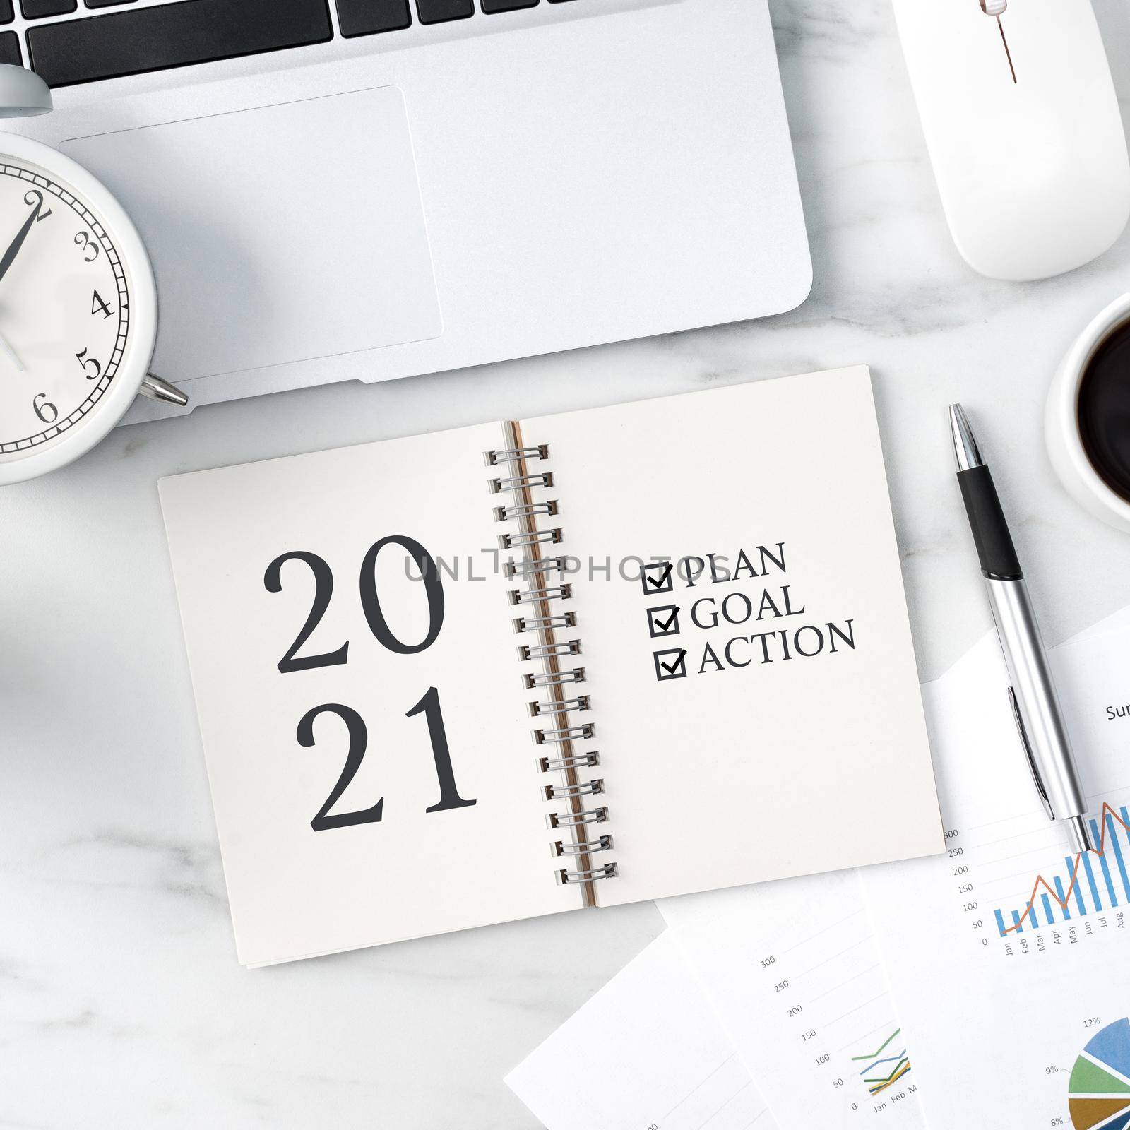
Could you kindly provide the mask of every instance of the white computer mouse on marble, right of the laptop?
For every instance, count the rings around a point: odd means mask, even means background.
[[[1130,159],[1089,0],[894,0],[957,250],[990,278],[1061,275],[1130,216]]]

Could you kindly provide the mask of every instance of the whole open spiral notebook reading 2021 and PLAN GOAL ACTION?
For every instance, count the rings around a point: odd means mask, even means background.
[[[244,964],[941,850],[863,367],[160,498]]]

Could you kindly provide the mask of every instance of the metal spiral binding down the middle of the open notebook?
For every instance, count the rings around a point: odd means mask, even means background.
[[[592,710],[588,695],[572,690],[572,684],[584,683],[583,667],[564,666],[572,657],[581,654],[581,641],[572,636],[558,636],[559,632],[576,627],[576,614],[559,611],[559,602],[572,600],[573,589],[560,580],[567,572],[568,559],[563,556],[542,556],[542,548],[560,545],[563,532],[559,527],[539,529],[538,520],[556,518],[559,513],[556,498],[536,497],[534,492],[551,489],[554,472],[540,470],[537,464],[549,459],[547,444],[530,445],[522,442],[521,427],[516,423],[506,425],[507,446],[488,451],[488,467],[506,466],[504,476],[488,483],[492,494],[510,494],[513,503],[494,508],[495,521],[516,525],[516,530],[499,536],[503,549],[520,550],[521,559],[511,559],[503,565],[508,580],[520,586],[510,590],[512,606],[529,607],[530,615],[514,619],[514,631],[529,634],[534,642],[518,649],[522,662],[534,662],[539,670],[527,671],[522,686],[528,690],[541,690],[546,697],[529,703],[532,716],[544,719],[545,724],[533,730],[537,746],[553,746],[551,756],[538,757],[537,772],[555,774],[553,784],[541,785],[545,800],[564,802],[563,811],[550,812],[547,823],[550,828],[567,834],[553,842],[553,855],[566,860],[570,866],[558,868],[556,879],[563,884],[581,887],[585,905],[597,902],[594,884],[616,875],[616,863],[598,863],[593,857],[612,850],[609,834],[592,835],[589,825],[606,824],[608,809],[603,806],[585,808],[590,797],[605,791],[603,780],[588,779],[586,770],[600,765],[600,754],[596,749],[581,749],[581,742],[596,737],[592,722],[577,722],[573,715]],[[550,580],[553,577],[553,580]]]

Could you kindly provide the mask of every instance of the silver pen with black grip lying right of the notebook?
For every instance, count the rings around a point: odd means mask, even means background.
[[[1008,696],[1012,716],[1036,791],[1049,818],[1067,827],[1075,850],[1093,851],[1095,845],[1085,819],[1087,801],[1071,753],[1071,739],[997,488],[960,405],[950,405],[949,426],[954,434],[957,481],[1011,683]]]

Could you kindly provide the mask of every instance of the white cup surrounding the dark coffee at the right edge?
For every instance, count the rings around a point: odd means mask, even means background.
[[[1052,467],[1067,493],[1095,518],[1130,533],[1130,502],[1102,479],[1079,435],[1079,384],[1095,351],[1118,327],[1130,323],[1130,294],[1112,302],[1076,339],[1052,380],[1044,436]]]

